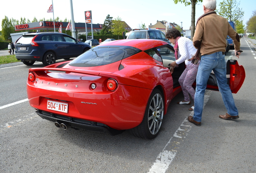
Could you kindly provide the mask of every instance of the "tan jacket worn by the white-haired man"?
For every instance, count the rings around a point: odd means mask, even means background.
[[[193,44],[195,48],[198,48],[202,40],[201,55],[225,52],[227,35],[233,40],[235,50],[240,50],[239,35],[233,30],[227,19],[217,14],[209,14],[198,21]]]

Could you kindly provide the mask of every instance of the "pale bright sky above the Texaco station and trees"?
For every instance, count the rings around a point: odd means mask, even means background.
[[[37,20],[41,18],[53,18],[53,13],[47,13],[48,8],[52,4],[54,6],[54,18],[59,17],[60,20],[71,20],[70,0],[4,0],[1,2],[0,10],[0,30],[2,30],[2,19],[5,16],[19,20],[22,18]],[[219,3],[223,0],[217,0],[217,9]],[[255,0],[237,0],[240,2],[240,8],[244,11],[244,25],[252,16],[252,12],[256,10]],[[173,0],[72,0],[74,21],[85,22],[85,11],[92,13],[93,24],[103,24],[106,16],[109,14],[115,18],[121,18],[131,28],[138,28],[142,24],[147,27],[150,24],[156,24],[157,20],[166,20],[167,22],[175,22],[189,30],[191,25],[191,5],[185,6],[178,2],[174,4]],[[196,20],[203,14],[202,3],[196,4]]]

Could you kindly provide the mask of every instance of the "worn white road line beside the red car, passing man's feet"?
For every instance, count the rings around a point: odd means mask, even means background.
[[[204,95],[204,106],[209,101],[211,93],[212,91],[206,90]],[[194,111],[190,113],[190,116],[193,115]],[[153,163],[148,173],[165,173],[167,171],[169,165],[175,158],[176,153],[179,149],[177,146],[182,143],[184,138],[186,138],[186,136],[188,135],[188,133],[186,132],[189,132],[191,128],[192,124],[188,122],[188,118],[186,117],[180,127],[178,127],[171,139],[165,145],[161,153],[159,153],[157,159],[155,160],[155,163]]]

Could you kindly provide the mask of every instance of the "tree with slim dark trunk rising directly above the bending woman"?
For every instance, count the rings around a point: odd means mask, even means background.
[[[185,6],[188,6],[191,4],[191,40],[193,39],[194,33],[195,33],[195,16],[196,16],[196,3],[202,2],[202,0],[173,0],[174,4],[177,4],[178,2],[184,3]]]

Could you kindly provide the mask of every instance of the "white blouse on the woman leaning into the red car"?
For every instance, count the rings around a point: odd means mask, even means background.
[[[185,64],[191,64],[188,61],[194,54],[196,54],[196,48],[193,45],[193,42],[187,37],[180,37],[178,40],[178,60],[175,60],[177,64],[180,64],[185,61]]]

